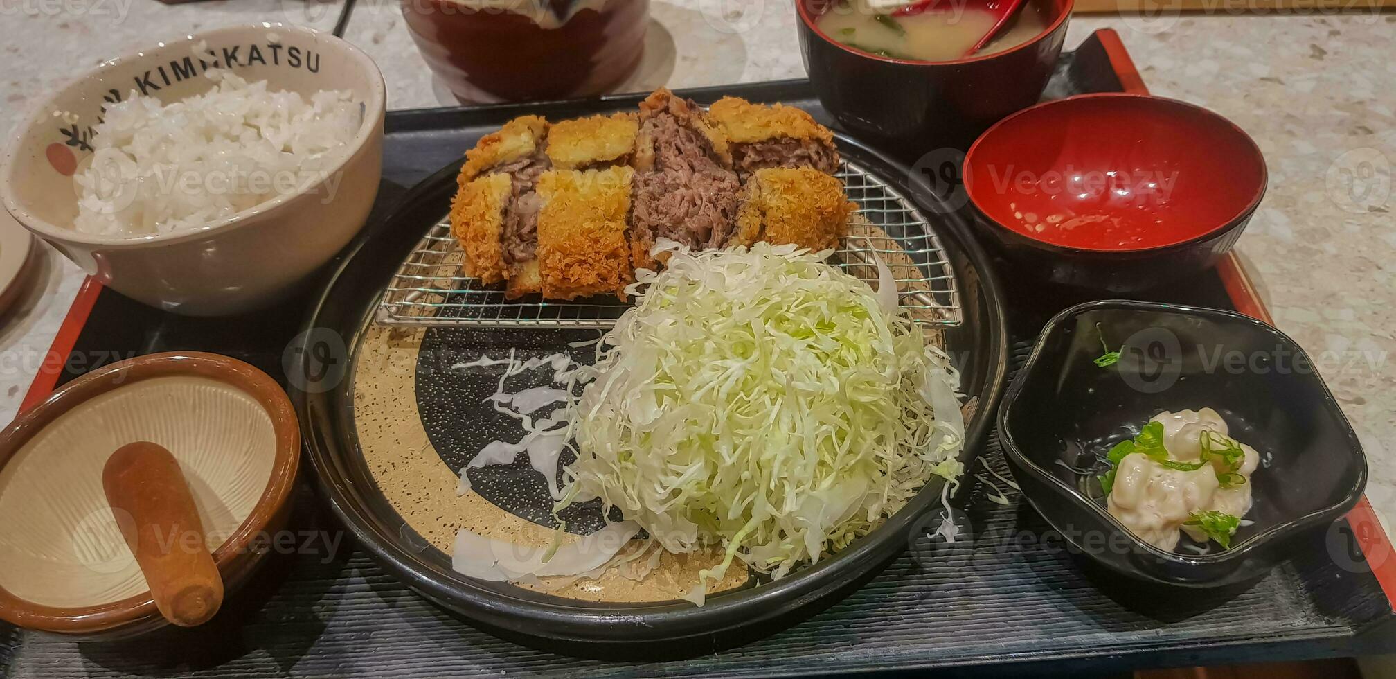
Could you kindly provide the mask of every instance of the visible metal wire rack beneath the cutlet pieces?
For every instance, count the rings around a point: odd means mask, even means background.
[[[835,175],[859,205],[849,235],[831,263],[877,288],[872,251],[896,279],[899,302],[923,326],[963,323],[960,291],[940,238],[905,196],[861,166],[845,161]],[[859,217],[861,215],[861,218]],[[417,243],[392,277],[377,320],[389,326],[610,328],[628,303],[617,299],[553,302],[504,299],[462,270],[465,253],[447,218]]]

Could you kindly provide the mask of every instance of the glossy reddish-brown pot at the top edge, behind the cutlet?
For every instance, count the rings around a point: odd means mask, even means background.
[[[465,103],[596,96],[639,66],[649,0],[610,0],[558,28],[452,0],[402,0],[427,66]]]

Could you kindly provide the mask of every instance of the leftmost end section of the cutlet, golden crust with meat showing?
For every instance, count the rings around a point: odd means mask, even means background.
[[[547,120],[524,116],[480,138],[465,152],[452,203],[451,232],[465,249],[466,271],[487,284],[508,279],[511,299],[539,292],[535,187],[551,166],[543,152],[547,134]]]

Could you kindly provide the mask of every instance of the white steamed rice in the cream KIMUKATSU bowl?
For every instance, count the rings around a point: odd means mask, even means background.
[[[95,126],[92,162],[73,177],[74,228],[151,235],[207,226],[314,186],[360,124],[348,91],[268,91],[219,68],[207,94],[162,105],[134,91]],[[331,177],[329,182],[334,182]],[[331,197],[327,183],[320,193]]]

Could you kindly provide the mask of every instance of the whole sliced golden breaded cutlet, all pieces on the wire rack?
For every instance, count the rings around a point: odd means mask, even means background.
[[[508,122],[466,152],[451,229],[466,271],[505,296],[624,296],[660,238],[694,250],[757,240],[838,247],[854,208],[833,134],[808,113],[667,89],[637,113]]]

